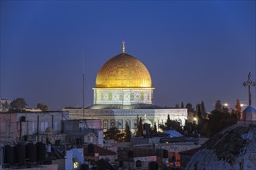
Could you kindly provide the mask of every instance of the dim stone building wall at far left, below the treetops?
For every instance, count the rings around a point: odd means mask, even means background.
[[[46,128],[53,133],[62,131],[62,121],[69,119],[68,112],[26,112],[0,114],[1,141],[23,140],[24,135],[45,134]]]

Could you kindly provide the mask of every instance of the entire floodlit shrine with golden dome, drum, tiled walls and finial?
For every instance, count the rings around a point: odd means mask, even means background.
[[[164,124],[168,114],[174,120],[185,124],[186,109],[162,108],[153,104],[153,90],[150,73],[145,65],[125,53],[113,56],[99,70],[94,90],[94,104],[70,111],[73,119],[101,119],[101,127],[125,129],[125,123],[135,128],[137,115],[144,122]]]

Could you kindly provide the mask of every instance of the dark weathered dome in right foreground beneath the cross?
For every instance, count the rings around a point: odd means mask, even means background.
[[[256,169],[256,124],[234,124],[215,134],[186,169]]]

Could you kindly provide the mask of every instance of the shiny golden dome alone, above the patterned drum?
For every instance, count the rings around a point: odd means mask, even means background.
[[[101,67],[96,88],[151,88],[151,76],[144,64],[126,53],[113,56]]]

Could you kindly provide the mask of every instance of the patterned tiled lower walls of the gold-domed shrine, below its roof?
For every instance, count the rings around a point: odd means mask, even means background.
[[[65,109],[70,112],[70,119],[82,119],[81,109]],[[148,119],[152,124],[164,124],[168,114],[172,120],[180,121],[185,125],[187,119],[186,109],[85,109],[84,113],[87,119],[100,119],[101,128],[106,131],[108,128],[117,127],[125,129],[125,123],[128,122],[131,130],[135,129],[138,117]]]

